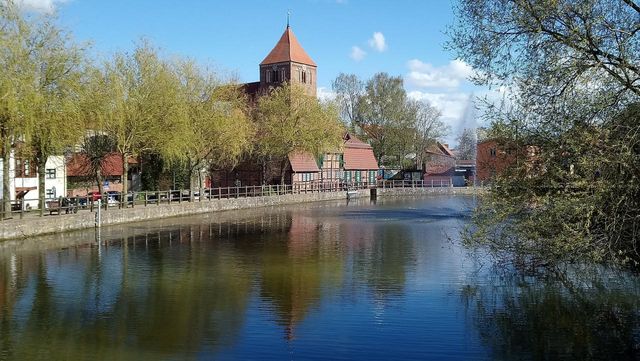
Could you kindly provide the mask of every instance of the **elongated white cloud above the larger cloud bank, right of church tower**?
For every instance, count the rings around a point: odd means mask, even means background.
[[[469,64],[457,59],[439,67],[413,59],[409,60],[407,66],[407,82],[420,88],[457,88],[462,81],[475,74]]]

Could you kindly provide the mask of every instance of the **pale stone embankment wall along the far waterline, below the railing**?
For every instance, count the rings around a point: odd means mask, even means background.
[[[477,188],[378,188],[378,197],[417,196],[429,194],[476,194]],[[371,190],[356,191],[355,198],[369,198]],[[306,194],[285,194],[249,198],[212,199],[202,202],[182,202],[174,204],[150,205],[126,209],[108,209],[101,212],[103,227],[154,219],[180,217],[194,214],[213,213],[229,210],[253,209],[268,206],[321,202],[346,199],[346,192],[319,192]],[[11,219],[0,223],[0,241],[28,238],[38,235],[69,232],[95,227],[95,213],[84,212],[68,215],[29,217]]]

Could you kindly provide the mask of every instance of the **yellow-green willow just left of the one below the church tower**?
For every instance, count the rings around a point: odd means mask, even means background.
[[[253,135],[241,89],[223,84],[191,61],[179,62],[176,71],[186,112],[184,160],[188,179],[191,181],[193,172],[205,167],[235,166],[249,149]]]

